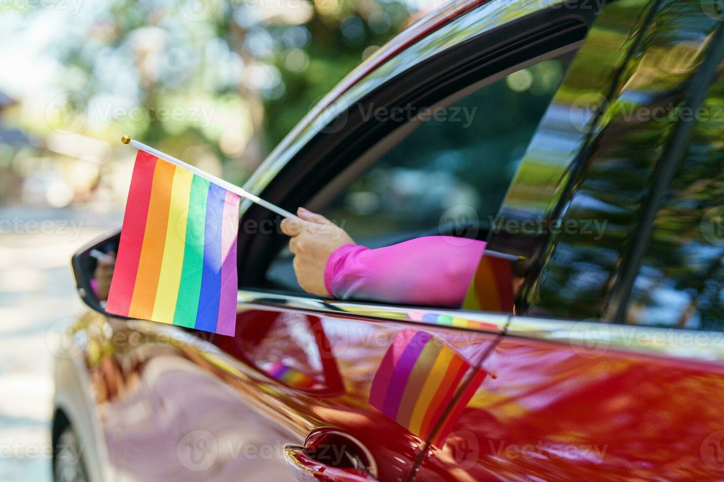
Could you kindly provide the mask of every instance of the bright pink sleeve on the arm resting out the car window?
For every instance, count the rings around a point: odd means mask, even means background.
[[[332,296],[346,300],[460,306],[484,249],[484,241],[453,236],[427,236],[379,249],[348,244],[327,260],[324,285]]]

